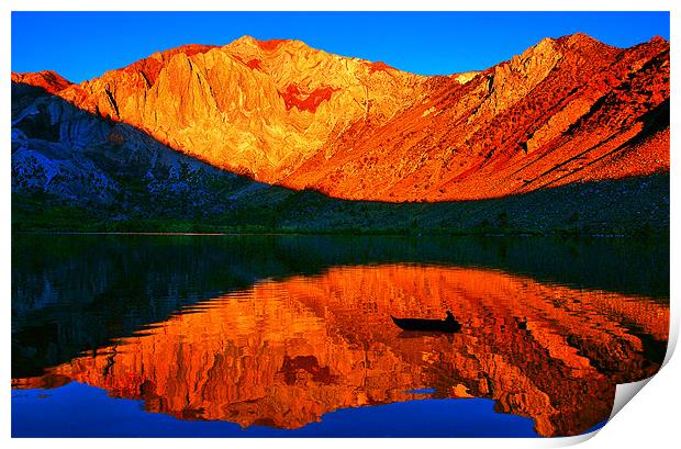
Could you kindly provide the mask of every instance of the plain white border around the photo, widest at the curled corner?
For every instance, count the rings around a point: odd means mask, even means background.
[[[9,0],[2,2],[0,8],[2,9],[2,15],[0,15],[0,45],[2,48],[2,58],[0,58],[0,77],[2,79],[0,87],[0,99],[2,101],[2,109],[0,109],[0,128],[3,130],[0,133],[2,136],[3,153],[3,166],[0,168],[0,179],[3,186],[0,193],[2,211],[4,212],[1,222],[3,242],[2,249],[3,257],[1,259],[0,279],[2,280],[2,288],[5,292],[4,304],[2,307],[2,316],[0,322],[3,323],[4,332],[1,335],[2,347],[5,349],[4,357],[5,363],[1,364],[3,379],[9,383],[11,378],[10,373],[10,332],[9,324],[11,322],[11,251],[10,251],[10,236],[11,236],[11,195],[10,195],[10,55],[11,55],[11,11],[160,11],[160,10],[177,10],[177,11],[216,11],[216,10],[234,10],[234,11],[257,11],[257,10],[291,10],[291,11],[371,11],[371,10],[413,10],[413,11],[428,11],[428,10],[459,10],[459,11],[518,11],[518,10],[536,10],[536,11],[671,11],[671,26],[670,26],[670,42],[672,55],[671,55],[671,272],[680,272],[679,267],[679,254],[678,249],[678,211],[679,211],[679,182],[678,182],[678,154],[679,145],[677,133],[679,127],[679,76],[677,75],[677,67],[681,67],[681,60],[679,60],[679,52],[677,40],[680,37],[679,31],[681,31],[680,22],[680,8],[679,1],[663,1],[663,0],[647,0],[641,2],[640,0],[571,0],[570,2],[548,2],[537,0],[514,0],[513,2],[503,0],[487,0],[484,2],[453,2],[445,0],[421,0],[418,2],[406,2],[404,0],[345,0],[343,3],[322,3],[319,0],[289,0],[286,3],[278,3],[271,0],[250,0],[247,3],[232,3],[221,2],[219,0],[165,0],[165,1],[147,1],[142,2],[139,0],[116,0],[115,3],[110,2],[93,2],[92,0],[64,0],[54,2],[49,0]],[[191,8],[188,8],[191,5]],[[58,7],[58,8],[57,8]],[[679,281],[671,277],[671,332],[670,344],[667,355],[665,368],[656,374],[646,386],[646,393],[637,394],[632,400],[633,404],[624,407],[624,412],[617,414],[614,419],[607,423],[602,430],[598,434],[598,438],[591,439],[587,445],[588,447],[647,447],[655,448],[668,447],[670,441],[678,440],[678,415],[677,406],[681,402],[681,388],[678,380],[681,379],[681,368],[678,361],[679,357],[672,359],[669,362],[669,358],[676,348],[676,344],[679,335],[679,322],[681,322],[679,301],[677,299],[677,292],[679,290]],[[3,407],[2,413],[2,437],[9,439],[10,437],[10,388],[7,385],[4,389],[0,389],[0,395],[2,397]],[[481,447],[481,448],[495,448],[503,445],[505,448],[527,448],[527,447],[559,447],[568,446],[577,442],[581,442],[590,439],[596,433],[588,436],[570,437],[570,438],[554,438],[554,439],[427,439],[423,440],[423,444],[433,446],[458,446],[458,447]],[[148,446],[155,444],[168,445],[170,447],[181,447],[187,442],[181,439],[175,440],[158,440],[158,439],[126,439],[125,441],[119,441],[115,439],[51,439],[48,441],[38,441],[35,439],[13,439],[9,441],[16,447],[31,447],[33,444],[49,445],[57,447],[91,447],[92,445],[103,447],[116,447],[119,445],[133,445],[133,446]],[[409,448],[416,441],[412,439],[324,439],[319,441],[316,439],[232,439],[225,441],[222,439],[202,439],[200,445],[205,447],[223,447],[230,445],[232,447],[270,447],[273,445],[281,446],[283,448],[313,448],[320,444],[328,448],[345,448],[348,445],[351,446],[369,446],[369,445],[390,445],[397,448]]]

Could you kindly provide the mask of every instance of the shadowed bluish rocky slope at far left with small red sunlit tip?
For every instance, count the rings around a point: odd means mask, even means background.
[[[115,205],[121,214],[141,207],[219,213],[244,189],[260,187],[51,94],[63,79],[38,75],[13,76],[13,193]]]

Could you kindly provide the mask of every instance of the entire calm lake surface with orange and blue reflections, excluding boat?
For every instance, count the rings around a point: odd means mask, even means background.
[[[668,248],[13,236],[12,434],[582,434],[659,369]],[[446,311],[460,333],[390,318]]]

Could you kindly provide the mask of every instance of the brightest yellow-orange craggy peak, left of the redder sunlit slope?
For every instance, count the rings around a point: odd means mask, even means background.
[[[214,166],[276,182],[359,120],[384,123],[422,78],[298,41],[242,37],[152,55],[59,92]]]

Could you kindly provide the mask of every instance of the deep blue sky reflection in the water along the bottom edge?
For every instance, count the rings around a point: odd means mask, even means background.
[[[139,401],[71,382],[12,391],[12,437],[536,437],[529,418],[500,414],[483,399],[417,400],[345,408],[300,429],[242,428],[148,413]]]

